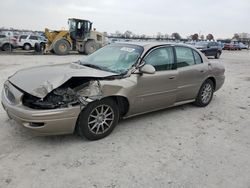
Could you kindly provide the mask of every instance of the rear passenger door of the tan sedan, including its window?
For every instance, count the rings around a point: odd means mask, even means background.
[[[194,99],[208,75],[208,65],[192,48],[176,46],[175,52],[178,70],[176,102]]]

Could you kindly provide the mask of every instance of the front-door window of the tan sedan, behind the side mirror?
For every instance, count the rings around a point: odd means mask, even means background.
[[[153,65],[156,71],[174,69],[174,53],[172,47],[158,48],[150,52],[145,61]]]

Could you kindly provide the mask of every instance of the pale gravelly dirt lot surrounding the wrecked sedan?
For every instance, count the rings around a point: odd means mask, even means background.
[[[0,55],[0,89],[21,68],[80,55]],[[95,142],[38,137],[0,107],[0,187],[250,187],[250,51],[224,52],[226,82],[206,108],[184,105],[122,121]]]

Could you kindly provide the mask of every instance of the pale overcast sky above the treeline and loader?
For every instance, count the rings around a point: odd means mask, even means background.
[[[0,7],[0,26],[18,29],[67,29],[75,17],[108,33],[250,33],[250,0],[5,0]]]

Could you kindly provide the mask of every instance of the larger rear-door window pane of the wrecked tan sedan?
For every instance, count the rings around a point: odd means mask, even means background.
[[[175,47],[175,51],[176,51],[177,67],[178,68],[186,67],[186,66],[190,66],[190,65],[195,64],[192,49],[187,48],[187,47],[177,46],[177,47]]]

